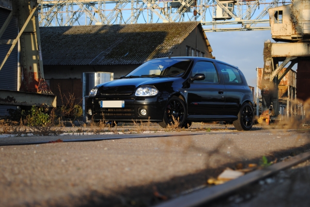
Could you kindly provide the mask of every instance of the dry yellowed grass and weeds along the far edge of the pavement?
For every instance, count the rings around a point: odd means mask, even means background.
[[[293,103],[299,104],[300,102]],[[283,117],[279,122],[272,123],[268,128],[278,128],[278,129],[303,129],[309,128],[310,126],[310,100],[303,103],[304,119],[299,113],[295,113],[294,116],[290,118]],[[52,110],[49,114],[49,122],[46,125],[42,126],[27,126],[27,118],[20,121],[12,121],[9,119],[0,120],[0,134],[13,134],[14,136],[23,136],[23,135],[58,135],[65,131],[68,131],[68,128],[65,128],[66,123],[70,123],[71,129],[69,130],[72,133],[78,135],[83,135],[85,133],[93,134],[102,134],[102,133],[145,133],[145,132],[196,132],[204,131],[210,132],[211,128],[206,127],[206,125],[201,122],[200,126],[196,124],[195,128],[185,129],[184,127],[179,127],[179,119],[173,117],[173,121],[163,129],[157,126],[157,124],[148,121],[143,122],[142,120],[132,120],[132,123],[122,123],[117,124],[114,122],[113,126],[108,124],[105,120],[105,117],[102,115],[102,120],[99,122],[90,121],[89,123],[84,123],[82,121],[74,122],[73,120],[63,121],[62,117],[57,117],[55,110]],[[213,123],[215,124],[215,123]],[[303,126],[304,125],[304,126]],[[253,127],[262,128],[260,125]],[[265,128],[265,127],[263,127]],[[227,128],[225,128],[228,130]],[[212,127],[212,130],[225,130],[225,129],[216,129]]]

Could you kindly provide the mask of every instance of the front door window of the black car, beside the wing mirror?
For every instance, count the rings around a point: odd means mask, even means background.
[[[192,76],[195,74],[204,74],[204,80],[195,80],[194,83],[218,83],[217,70],[212,62],[196,62],[192,70]]]

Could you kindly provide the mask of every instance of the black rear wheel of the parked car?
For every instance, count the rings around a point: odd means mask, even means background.
[[[248,131],[253,126],[254,112],[249,103],[243,103],[238,113],[238,119],[233,121],[233,126],[238,131]]]

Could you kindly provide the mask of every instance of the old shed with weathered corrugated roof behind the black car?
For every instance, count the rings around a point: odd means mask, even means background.
[[[59,86],[81,98],[86,72],[114,73],[117,79],[149,59],[215,58],[199,22],[42,27],[40,36],[45,79],[57,97]]]

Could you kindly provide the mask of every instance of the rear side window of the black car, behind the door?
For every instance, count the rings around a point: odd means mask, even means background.
[[[242,83],[238,69],[232,66],[229,66],[229,65],[222,64],[222,63],[218,63],[218,65],[219,65],[219,68],[221,69],[224,83],[228,83],[228,84],[241,84]]]

